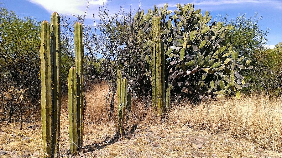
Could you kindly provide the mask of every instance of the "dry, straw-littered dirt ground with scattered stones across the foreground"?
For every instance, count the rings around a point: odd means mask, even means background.
[[[18,123],[2,125],[0,158],[40,157],[42,153],[40,126],[40,122],[24,122],[21,131]],[[61,127],[61,156],[72,157],[68,155],[68,124],[63,123]],[[123,138],[109,145],[96,145],[95,148],[94,144],[114,135],[114,125],[111,123],[87,124],[84,131],[84,145],[91,145],[93,148],[75,157],[204,158],[212,157],[212,155],[220,158],[282,157],[281,152],[260,148],[259,145],[248,140],[231,138],[228,131],[213,135],[206,131],[194,131],[188,127],[139,124],[134,134],[128,135],[131,139]]]

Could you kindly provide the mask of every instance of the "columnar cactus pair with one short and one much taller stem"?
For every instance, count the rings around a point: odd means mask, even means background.
[[[83,149],[83,30],[80,22],[75,23],[75,65],[69,70],[68,103],[69,103],[69,138],[70,151],[76,155]]]

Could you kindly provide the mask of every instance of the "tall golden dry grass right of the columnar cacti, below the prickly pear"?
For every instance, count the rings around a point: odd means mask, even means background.
[[[212,133],[228,130],[234,138],[282,150],[282,101],[265,95],[174,103],[167,122]]]

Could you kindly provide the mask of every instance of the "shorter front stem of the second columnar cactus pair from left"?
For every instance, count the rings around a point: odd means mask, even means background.
[[[68,76],[68,103],[69,103],[69,138],[70,138],[70,151],[72,155],[76,155],[81,150],[81,83],[80,77],[76,72],[76,68],[72,67],[69,70]]]

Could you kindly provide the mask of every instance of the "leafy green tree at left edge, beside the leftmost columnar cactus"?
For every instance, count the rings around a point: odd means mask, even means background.
[[[31,17],[20,18],[15,12],[0,7],[0,88],[6,93],[11,86],[29,88],[32,104],[40,98],[39,37],[39,22]],[[16,97],[10,99],[9,120],[16,106]]]

